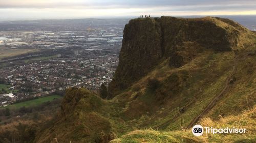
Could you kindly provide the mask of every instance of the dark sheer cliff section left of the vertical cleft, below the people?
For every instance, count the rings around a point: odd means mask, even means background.
[[[131,20],[124,28],[119,65],[110,89],[126,88],[145,75],[147,73],[145,69],[156,65],[162,55],[161,27],[157,21],[149,18]]]

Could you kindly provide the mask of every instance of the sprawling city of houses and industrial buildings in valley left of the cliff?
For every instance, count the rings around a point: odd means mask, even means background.
[[[97,91],[107,85],[127,21],[0,22],[0,106],[63,94],[68,87]]]

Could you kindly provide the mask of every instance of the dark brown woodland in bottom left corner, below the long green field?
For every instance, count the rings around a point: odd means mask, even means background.
[[[56,99],[34,107],[22,107],[17,110],[0,109],[0,143],[34,142],[35,136],[40,129],[52,125],[53,120],[49,121],[49,118],[57,114],[60,109],[60,102],[60,99]],[[8,112],[10,115],[5,116]],[[18,117],[18,115],[20,116]],[[24,120],[33,122],[23,123]],[[15,125],[15,122],[19,122],[19,124]],[[1,127],[5,125],[8,125],[8,128]]]

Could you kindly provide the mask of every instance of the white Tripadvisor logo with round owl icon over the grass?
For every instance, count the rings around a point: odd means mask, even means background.
[[[203,133],[206,133],[206,134],[216,134],[216,133],[245,133],[246,132],[246,129],[238,129],[238,128],[229,128],[229,127],[226,127],[226,128],[212,128],[212,127],[202,127],[201,125],[195,125],[193,128],[192,128],[192,133],[195,135],[195,136],[200,136],[202,135]]]

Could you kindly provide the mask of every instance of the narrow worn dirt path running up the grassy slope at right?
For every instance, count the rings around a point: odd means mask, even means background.
[[[231,71],[231,73],[229,74],[229,76],[226,79],[226,83],[224,88],[222,89],[222,91],[220,92],[220,94],[218,94],[209,104],[207,107],[205,107],[205,109],[203,110],[203,112],[201,112],[201,114],[199,114],[197,117],[194,118],[194,120],[188,125],[188,128],[193,127],[194,125],[196,125],[196,123],[200,120],[200,118],[205,115],[212,107],[214,107],[217,102],[219,101],[219,99],[223,96],[223,94],[225,93],[225,91],[229,88],[230,86],[230,82],[233,80],[233,75],[236,71],[236,65],[237,61],[234,61],[234,65],[233,65],[233,69]]]

